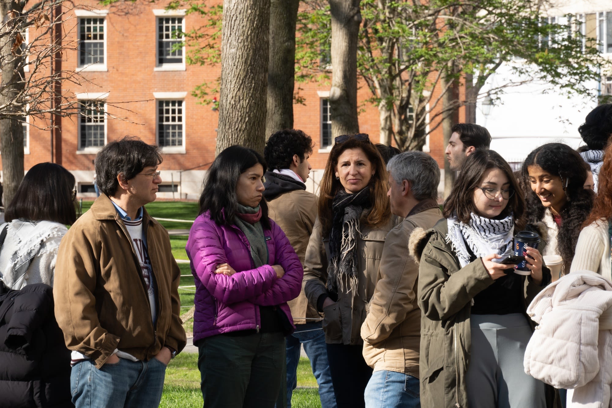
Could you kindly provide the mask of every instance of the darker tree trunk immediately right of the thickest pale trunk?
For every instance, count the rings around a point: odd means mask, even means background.
[[[270,6],[266,139],[278,130],[293,129],[299,0],[271,0]]]

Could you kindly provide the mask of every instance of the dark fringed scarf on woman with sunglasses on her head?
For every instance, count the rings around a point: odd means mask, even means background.
[[[327,290],[357,291],[357,237],[359,218],[369,205],[370,187],[356,194],[341,190],[332,203],[332,229],[329,233],[329,252],[332,262],[327,268]]]

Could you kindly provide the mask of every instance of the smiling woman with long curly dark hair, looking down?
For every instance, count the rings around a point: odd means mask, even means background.
[[[580,154],[562,143],[534,149],[523,163],[526,222],[544,230],[542,255],[561,255],[561,274],[569,273],[578,234],[593,207],[594,192],[584,189],[588,165]]]

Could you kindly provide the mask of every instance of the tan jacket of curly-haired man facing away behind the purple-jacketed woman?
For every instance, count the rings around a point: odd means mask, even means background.
[[[304,265],[306,247],[316,219],[316,195],[304,190],[293,190],[268,202],[269,217],[285,232],[291,246]],[[288,301],[296,325],[321,320],[321,315],[308,304],[304,288],[294,300]],[[308,319],[308,320],[307,320]]]

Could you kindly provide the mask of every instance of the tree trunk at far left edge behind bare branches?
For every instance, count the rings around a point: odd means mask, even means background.
[[[3,1],[0,2],[0,20],[17,21],[15,18],[21,14],[20,2]],[[20,48],[13,47],[18,28],[13,28],[12,25],[4,24],[4,29],[9,34],[0,37],[0,59],[2,64],[0,67],[2,73],[2,85],[0,86],[0,104],[15,100],[21,91],[23,91],[23,66],[20,65],[20,56],[13,53],[13,49],[17,48],[17,53],[20,53]],[[7,107],[7,113],[19,112],[19,107]],[[13,199],[17,192],[19,184],[23,179],[23,127],[21,122],[13,119],[0,120],[0,151],[2,153],[2,203],[6,206]]]

